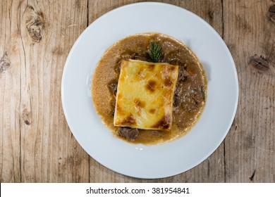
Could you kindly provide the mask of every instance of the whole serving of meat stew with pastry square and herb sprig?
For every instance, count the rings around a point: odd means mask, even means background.
[[[92,79],[102,122],[135,144],[183,136],[199,119],[206,98],[207,77],[195,53],[160,33],[134,34],[113,44]]]

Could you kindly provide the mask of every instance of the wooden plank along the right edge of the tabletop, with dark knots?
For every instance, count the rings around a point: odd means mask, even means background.
[[[224,39],[240,86],[236,119],[225,143],[226,182],[275,182],[275,23],[268,13],[272,5],[224,1]],[[250,67],[248,60],[255,54],[267,58],[269,68],[262,72]]]

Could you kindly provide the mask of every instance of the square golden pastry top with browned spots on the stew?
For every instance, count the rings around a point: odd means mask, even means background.
[[[178,65],[121,61],[114,125],[169,130]]]

